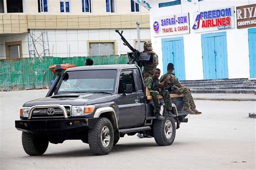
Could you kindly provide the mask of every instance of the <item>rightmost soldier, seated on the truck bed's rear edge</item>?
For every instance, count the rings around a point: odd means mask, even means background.
[[[178,78],[173,74],[173,70],[173,63],[169,63],[167,66],[167,73],[161,76],[160,82],[165,81],[164,88],[171,89],[170,93],[184,95],[184,111],[188,112],[191,115],[201,114],[201,112],[196,109],[196,104],[194,104],[194,100],[190,93],[190,89],[179,82]]]

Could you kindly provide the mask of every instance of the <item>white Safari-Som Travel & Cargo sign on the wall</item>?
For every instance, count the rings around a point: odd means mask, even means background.
[[[154,37],[190,33],[188,13],[153,18]]]

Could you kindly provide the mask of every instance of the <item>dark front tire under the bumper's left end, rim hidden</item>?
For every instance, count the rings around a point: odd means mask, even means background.
[[[48,139],[40,137],[38,134],[22,132],[22,146],[24,151],[31,155],[42,155],[49,145]]]

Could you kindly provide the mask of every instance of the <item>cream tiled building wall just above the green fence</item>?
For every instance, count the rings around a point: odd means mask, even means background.
[[[88,56],[87,49],[89,41],[114,41],[116,44],[116,54],[126,54],[130,49],[123,45],[120,36],[114,32],[115,29],[63,29],[63,30],[30,30],[36,36],[40,36],[42,31],[48,32],[49,49],[51,56]],[[136,29],[123,29],[123,35],[129,43],[135,47],[137,39]],[[0,36],[0,59],[6,58],[5,42],[22,41],[23,57],[29,57],[28,37],[27,33],[14,34],[11,36]],[[142,40],[150,39],[150,29],[140,29],[140,38]],[[38,43],[35,43],[38,53],[43,52],[43,48]],[[135,47],[137,48],[137,47]]]

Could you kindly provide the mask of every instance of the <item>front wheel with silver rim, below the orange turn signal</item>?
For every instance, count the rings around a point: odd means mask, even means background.
[[[102,134],[104,129],[109,130],[109,132],[107,132],[105,136],[104,134]],[[106,139],[106,138],[109,138],[109,143],[107,145],[104,141],[102,141],[102,139]],[[95,124],[95,127],[89,130],[88,141],[89,141],[89,146],[92,153],[96,155],[105,155],[110,153],[114,143],[114,131],[113,131],[113,126],[109,121],[109,119],[105,117],[98,118]]]

